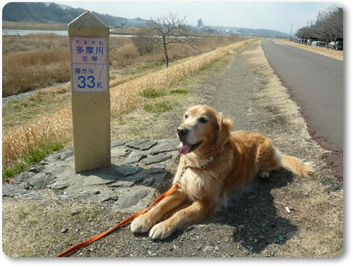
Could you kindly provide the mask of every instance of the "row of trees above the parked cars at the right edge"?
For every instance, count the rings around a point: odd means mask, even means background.
[[[301,27],[296,35],[305,39],[316,37],[326,43],[343,38],[343,9],[338,6],[328,8],[327,11],[319,13],[315,24]]]

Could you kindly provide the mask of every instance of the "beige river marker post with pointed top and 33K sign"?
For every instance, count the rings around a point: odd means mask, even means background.
[[[109,166],[109,27],[85,12],[68,24],[75,172]]]

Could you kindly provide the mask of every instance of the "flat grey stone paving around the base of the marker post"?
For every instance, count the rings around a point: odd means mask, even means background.
[[[112,142],[112,164],[107,168],[74,171],[73,147],[55,152],[28,171],[20,173],[16,184],[3,186],[3,197],[46,199],[50,188],[65,202],[111,206],[135,212],[152,201],[156,188],[178,157],[176,139]]]

